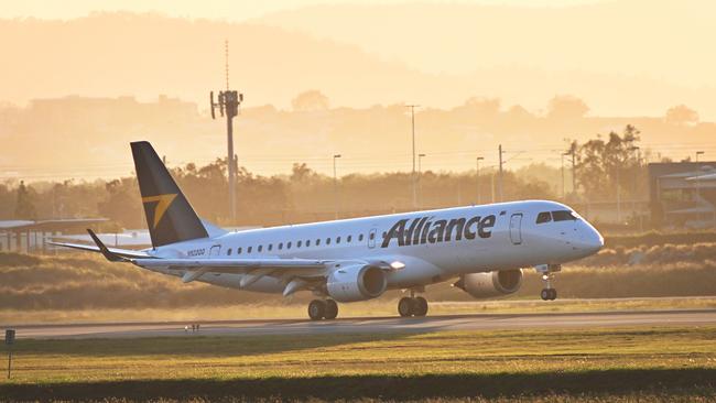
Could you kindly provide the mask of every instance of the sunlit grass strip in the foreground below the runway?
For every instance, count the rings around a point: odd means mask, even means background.
[[[716,326],[19,340],[14,368],[0,400],[708,401]]]

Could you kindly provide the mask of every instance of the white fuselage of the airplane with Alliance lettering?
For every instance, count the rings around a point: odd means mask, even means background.
[[[573,218],[538,224],[538,215],[544,211],[568,211]],[[402,270],[388,272],[388,287],[409,288],[465,273],[561,264],[587,257],[603,244],[599,232],[571,208],[534,200],[253,229],[174,243],[150,253],[159,258],[400,262]],[[281,293],[285,287],[271,276],[241,287],[242,275],[206,273],[197,281],[258,292]]]

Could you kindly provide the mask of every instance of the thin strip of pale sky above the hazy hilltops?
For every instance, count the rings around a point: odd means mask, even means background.
[[[227,11],[232,20],[242,20],[264,15],[270,12],[295,9],[317,4],[340,3],[408,3],[405,0],[271,0],[271,1],[236,1],[236,0],[23,0],[2,1],[1,18],[35,17],[41,19],[70,19],[84,17],[93,11],[158,11],[173,17],[226,19]],[[564,7],[585,3],[604,2],[599,0],[422,0],[423,3],[475,3],[475,4],[509,4],[529,7]],[[242,15],[242,18],[237,18]],[[231,19],[231,18],[229,18]]]

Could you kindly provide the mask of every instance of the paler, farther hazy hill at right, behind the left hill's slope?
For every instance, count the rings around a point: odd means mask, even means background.
[[[254,22],[452,76],[462,87],[446,81],[445,89],[463,97],[468,89],[534,110],[554,94],[576,94],[597,115],[611,116],[653,116],[685,102],[715,120],[716,53],[707,51],[716,37],[714,15],[716,3],[708,0],[406,1],[297,8]],[[442,97],[417,101],[444,106]]]

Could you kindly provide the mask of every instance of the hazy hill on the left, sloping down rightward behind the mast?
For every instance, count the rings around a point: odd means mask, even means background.
[[[205,108],[208,91],[225,87],[225,39],[231,86],[252,106],[288,106],[313,88],[338,105],[369,106],[456,87],[358,46],[279,28],[98,13],[69,21],[0,20],[0,99],[166,94]]]

